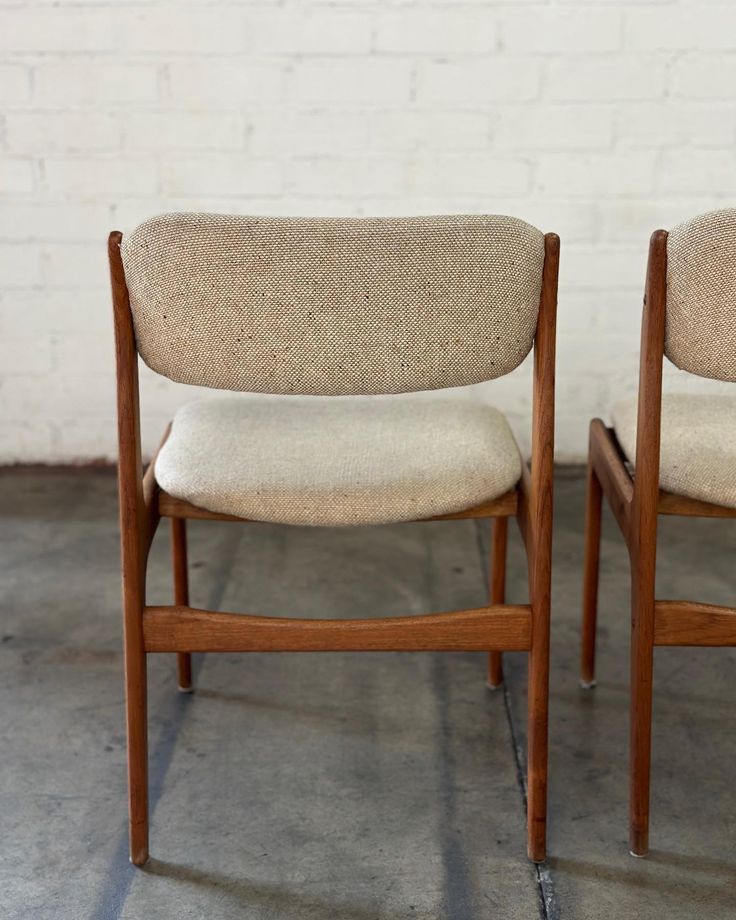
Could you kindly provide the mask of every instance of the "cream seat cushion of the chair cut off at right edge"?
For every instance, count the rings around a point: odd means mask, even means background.
[[[626,456],[636,457],[636,400],[613,409]],[[659,484],[668,492],[736,508],[736,398],[672,393],[662,398]]]

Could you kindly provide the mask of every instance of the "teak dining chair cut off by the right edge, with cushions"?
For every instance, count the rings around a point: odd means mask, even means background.
[[[701,377],[736,381],[736,210],[715,211],[649,244],[638,400],[590,425],[581,683],[595,683],[601,500],[631,560],[630,850],[649,846],[654,647],[736,645],[736,608],[655,597],[660,514],[736,517],[736,402],[665,394],[664,357]]]

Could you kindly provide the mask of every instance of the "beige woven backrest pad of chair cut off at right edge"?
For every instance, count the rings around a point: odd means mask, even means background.
[[[736,209],[670,230],[665,353],[692,374],[736,380]]]

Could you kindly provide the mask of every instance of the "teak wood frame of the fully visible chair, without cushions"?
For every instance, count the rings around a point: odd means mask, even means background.
[[[123,574],[125,699],[128,739],[130,859],[148,859],[146,656],[176,652],[179,685],[191,689],[190,653],[220,651],[487,651],[500,680],[500,654],[529,653],[528,854],[546,852],[547,706],[549,684],[554,448],[555,328],[559,238],[545,236],[539,317],[534,341],[531,466],[516,489],[498,499],[433,520],[493,518],[490,604],[475,610],[376,620],[299,620],[196,610],[188,604],[186,519],[243,521],[197,508],[163,492],[141,458],[138,353],[120,243],[108,241],[115,325],[120,526]],[[164,441],[168,429],[164,434]],[[163,441],[162,441],[163,443]],[[526,547],[529,603],[505,604],[507,518],[517,518]],[[175,604],[146,604],[148,553],[161,517],[171,519]]]

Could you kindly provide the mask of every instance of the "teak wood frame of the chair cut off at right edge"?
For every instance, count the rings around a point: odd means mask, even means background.
[[[736,517],[736,510],[674,495],[659,488],[659,445],[667,311],[667,232],[649,244],[642,315],[639,401],[634,475],[615,432],[590,424],[585,519],[581,683],[595,684],[595,641],[601,502],[605,494],[631,562],[631,699],[629,847],[649,848],[652,672],[657,645],[736,645],[736,608],[687,600],[657,600],[655,573],[660,514]]]

